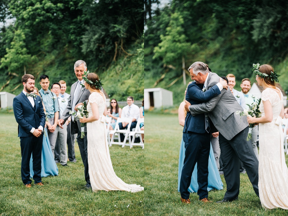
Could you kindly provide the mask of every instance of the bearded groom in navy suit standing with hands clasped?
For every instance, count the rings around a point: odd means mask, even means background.
[[[45,127],[45,113],[40,96],[32,94],[35,78],[31,74],[22,76],[23,91],[14,97],[13,110],[18,123],[18,137],[21,146],[21,176],[26,187],[31,187],[29,162],[33,158],[34,182],[42,186],[41,153],[43,142],[43,128]]]

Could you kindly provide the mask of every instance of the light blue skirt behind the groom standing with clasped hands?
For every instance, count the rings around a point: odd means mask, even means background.
[[[48,133],[46,128],[44,128],[43,135],[43,145],[42,145],[42,157],[41,157],[41,177],[47,176],[58,176],[58,167],[54,161],[54,156],[52,154]],[[46,135],[47,136],[46,136]],[[33,163],[32,163],[32,155],[30,159],[30,178],[33,178]]]

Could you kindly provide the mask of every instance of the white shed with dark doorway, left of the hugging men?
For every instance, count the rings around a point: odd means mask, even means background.
[[[150,107],[173,106],[173,92],[166,89],[144,89],[144,98],[144,110]]]

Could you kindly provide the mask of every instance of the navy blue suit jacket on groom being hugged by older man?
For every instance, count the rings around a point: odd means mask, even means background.
[[[210,100],[212,97],[216,97],[221,94],[221,91],[214,85],[212,88],[207,91],[202,91],[203,84],[197,84],[196,82],[192,82],[188,88],[185,99],[191,104],[201,104]],[[187,112],[185,118],[185,124],[183,133],[194,132],[203,134],[206,132],[205,130],[205,113],[201,113],[195,116],[192,116],[190,112]]]

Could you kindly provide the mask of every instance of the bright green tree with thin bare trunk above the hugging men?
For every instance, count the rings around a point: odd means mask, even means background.
[[[184,20],[179,13],[171,15],[171,20],[166,28],[166,34],[160,35],[161,42],[154,48],[154,59],[162,58],[164,64],[172,64],[179,67],[182,62],[183,83],[186,85],[185,55],[192,49],[187,42],[182,25]]]

